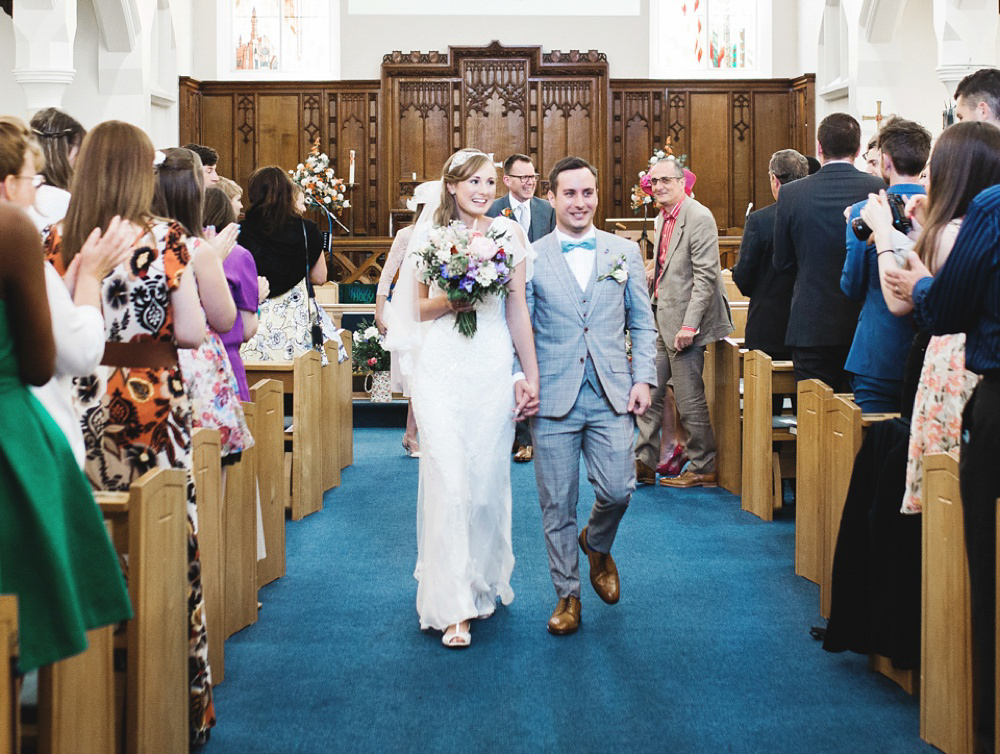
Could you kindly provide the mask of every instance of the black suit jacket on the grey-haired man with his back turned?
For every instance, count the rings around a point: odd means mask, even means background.
[[[792,308],[795,273],[774,267],[774,216],[771,204],[747,217],[740,242],[740,258],[733,267],[733,282],[750,298],[747,311],[746,347],[768,354],[782,354],[785,331]]]

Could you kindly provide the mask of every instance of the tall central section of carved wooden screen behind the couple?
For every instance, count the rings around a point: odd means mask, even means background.
[[[497,161],[527,154],[543,177],[570,154],[602,168],[607,75],[607,59],[596,51],[543,54],[540,47],[497,42],[386,55],[382,197],[389,207],[401,206],[414,181],[439,177],[462,147],[493,153]],[[602,191],[605,181],[601,170]]]

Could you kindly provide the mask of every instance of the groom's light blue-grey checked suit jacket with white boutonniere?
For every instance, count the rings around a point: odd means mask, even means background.
[[[554,232],[533,248],[538,256],[527,297],[541,376],[539,416],[558,419],[570,412],[583,385],[588,355],[611,406],[625,413],[633,384],[656,384],[656,325],[639,247],[598,230],[586,291],[580,290]],[[623,283],[609,276],[616,265],[628,270]],[[632,337],[631,363],[626,328]]]

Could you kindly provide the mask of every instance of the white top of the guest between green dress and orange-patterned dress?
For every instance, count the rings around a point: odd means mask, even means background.
[[[45,293],[56,340],[56,368],[51,380],[31,392],[66,435],[83,468],[86,448],[80,416],[73,406],[73,378],[96,371],[104,356],[104,317],[92,306],[77,306],[55,268],[45,264]]]

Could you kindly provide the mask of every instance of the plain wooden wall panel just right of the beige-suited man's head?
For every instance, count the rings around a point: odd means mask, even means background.
[[[688,164],[698,175],[695,194],[712,210],[720,227],[729,225],[731,155],[729,150],[729,97],[725,93],[693,93]],[[720,209],[722,212],[720,212]]]

